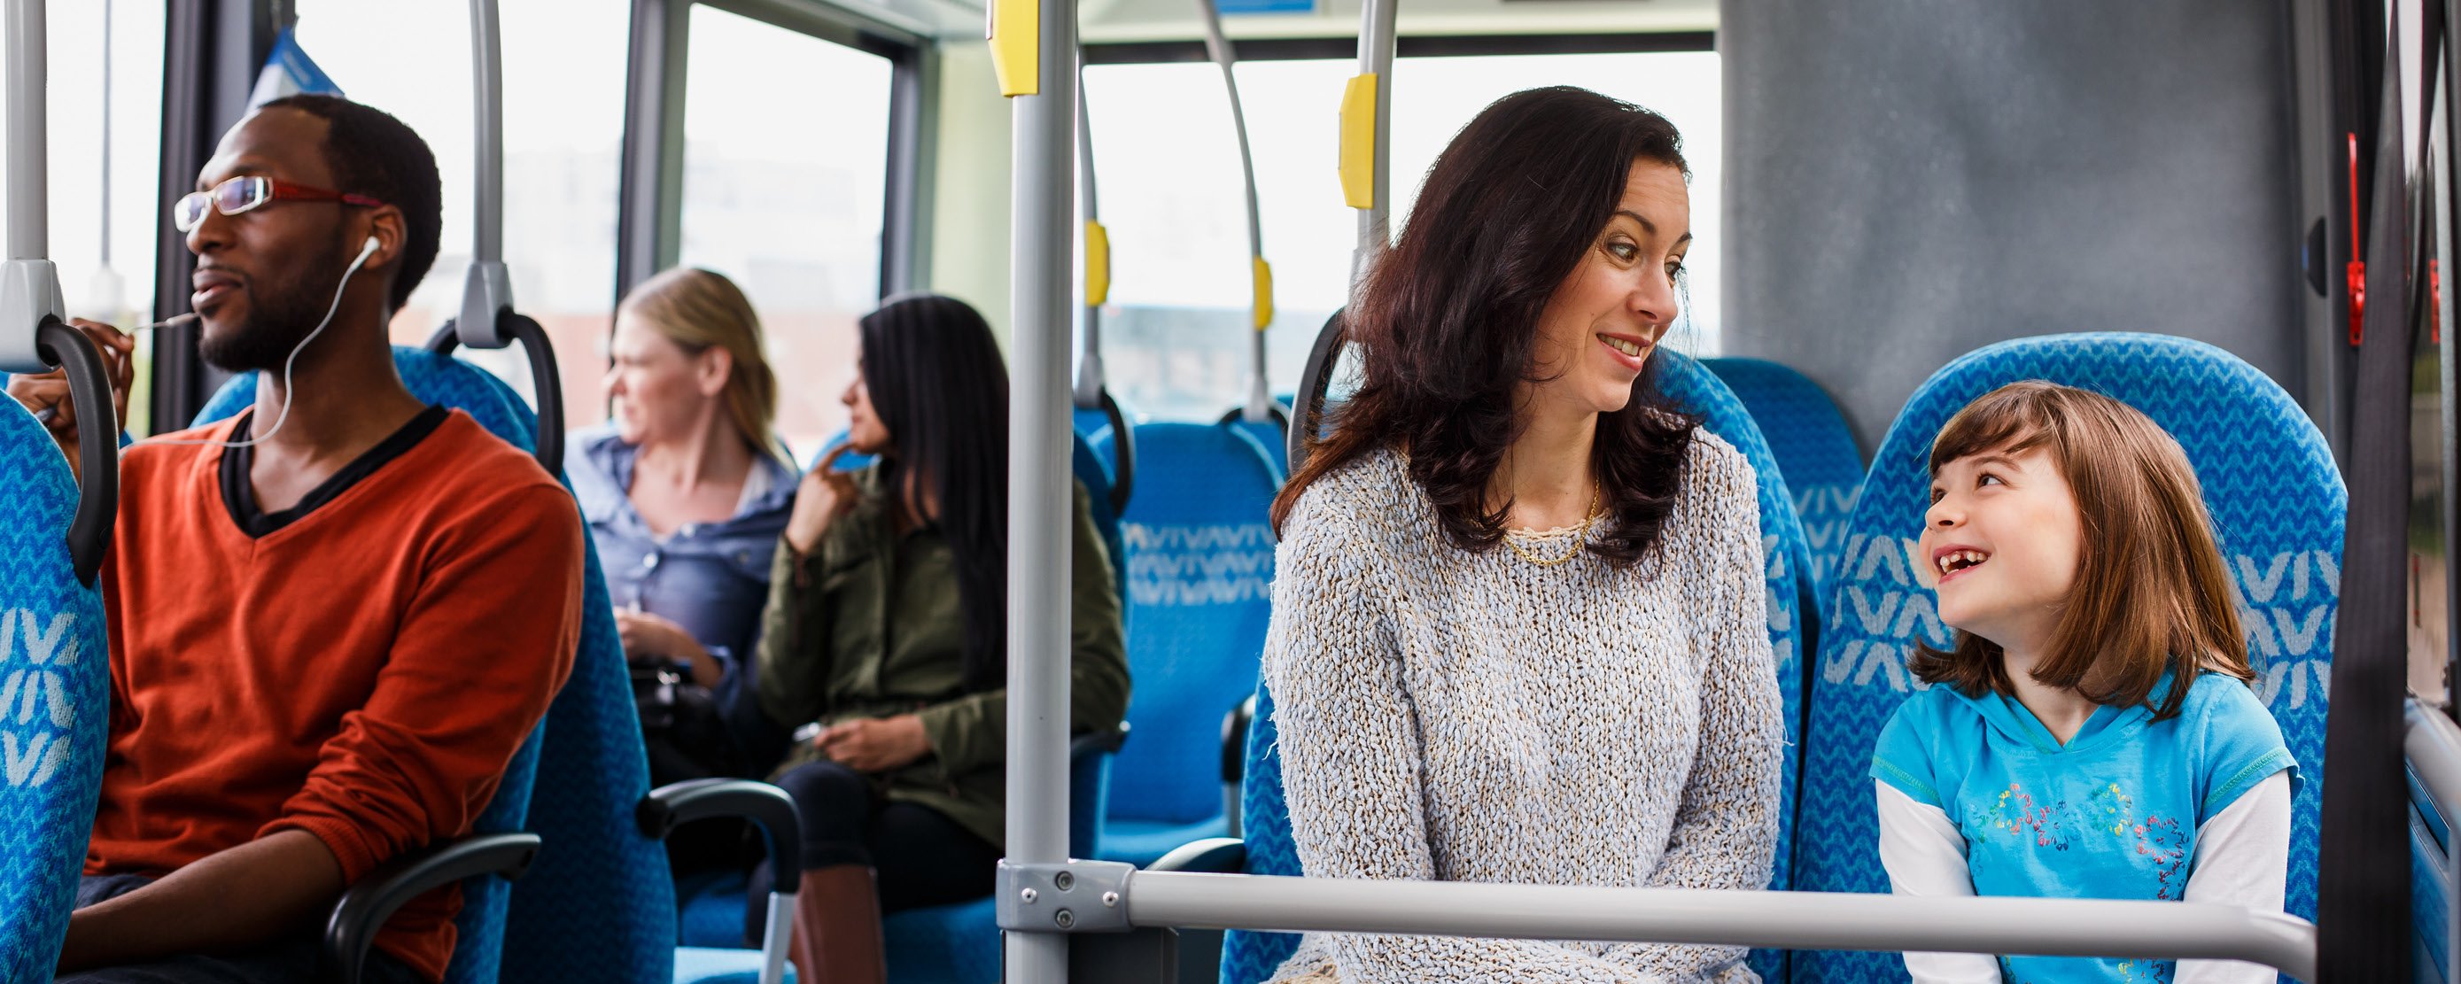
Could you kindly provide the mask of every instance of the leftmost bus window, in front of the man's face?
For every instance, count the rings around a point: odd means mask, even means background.
[[[170,234],[158,202],[162,0],[49,2],[47,20],[52,76],[86,81],[49,86],[49,256],[59,266],[62,300],[71,317],[135,327],[153,320],[155,244]],[[103,121],[111,121],[108,140]],[[145,435],[153,430],[150,332],[138,332],[135,359],[138,389],[128,394],[123,426]]]

